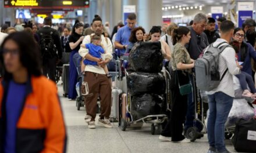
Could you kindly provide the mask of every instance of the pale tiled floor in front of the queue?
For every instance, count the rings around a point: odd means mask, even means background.
[[[207,134],[194,143],[175,144],[158,140],[159,135],[150,134],[150,126],[145,125],[140,130],[127,129],[120,130],[118,123],[112,129],[97,126],[96,129],[88,129],[84,121],[86,114],[84,107],[80,111],[76,110],[76,101],[62,97],[62,86],[58,85],[59,95],[63,112],[65,115],[66,128],[68,134],[67,152],[207,152]],[[230,140],[226,140],[227,148],[231,152],[236,152]]]

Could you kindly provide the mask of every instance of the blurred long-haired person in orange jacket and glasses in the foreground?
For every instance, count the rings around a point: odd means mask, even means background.
[[[0,62],[0,153],[66,152],[56,85],[42,76],[33,38],[10,34],[1,45]]]

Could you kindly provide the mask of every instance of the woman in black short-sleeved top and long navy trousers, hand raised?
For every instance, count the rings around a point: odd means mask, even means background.
[[[79,20],[76,20],[73,26],[72,35],[69,37],[69,46],[72,49],[72,52],[70,53],[69,57],[69,99],[76,99],[77,93],[76,93],[76,83],[77,83],[77,77],[78,73],[76,70],[76,66],[73,62],[73,56],[74,54],[78,53],[78,50],[80,49],[80,44],[83,41],[84,37],[82,35],[82,32],[84,30],[83,23],[80,23]]]

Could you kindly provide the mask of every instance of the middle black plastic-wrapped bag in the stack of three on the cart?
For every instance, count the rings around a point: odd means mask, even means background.
[[[132,72],[127,77],[127,88],[131,96],[144,93],[165,93],[165,78],[160,73]]]

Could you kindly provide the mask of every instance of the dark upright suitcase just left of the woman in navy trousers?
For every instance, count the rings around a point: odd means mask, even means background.
[[[63,96],[67,97],[69,92],[69,64],[63,64],[62,70]]]

